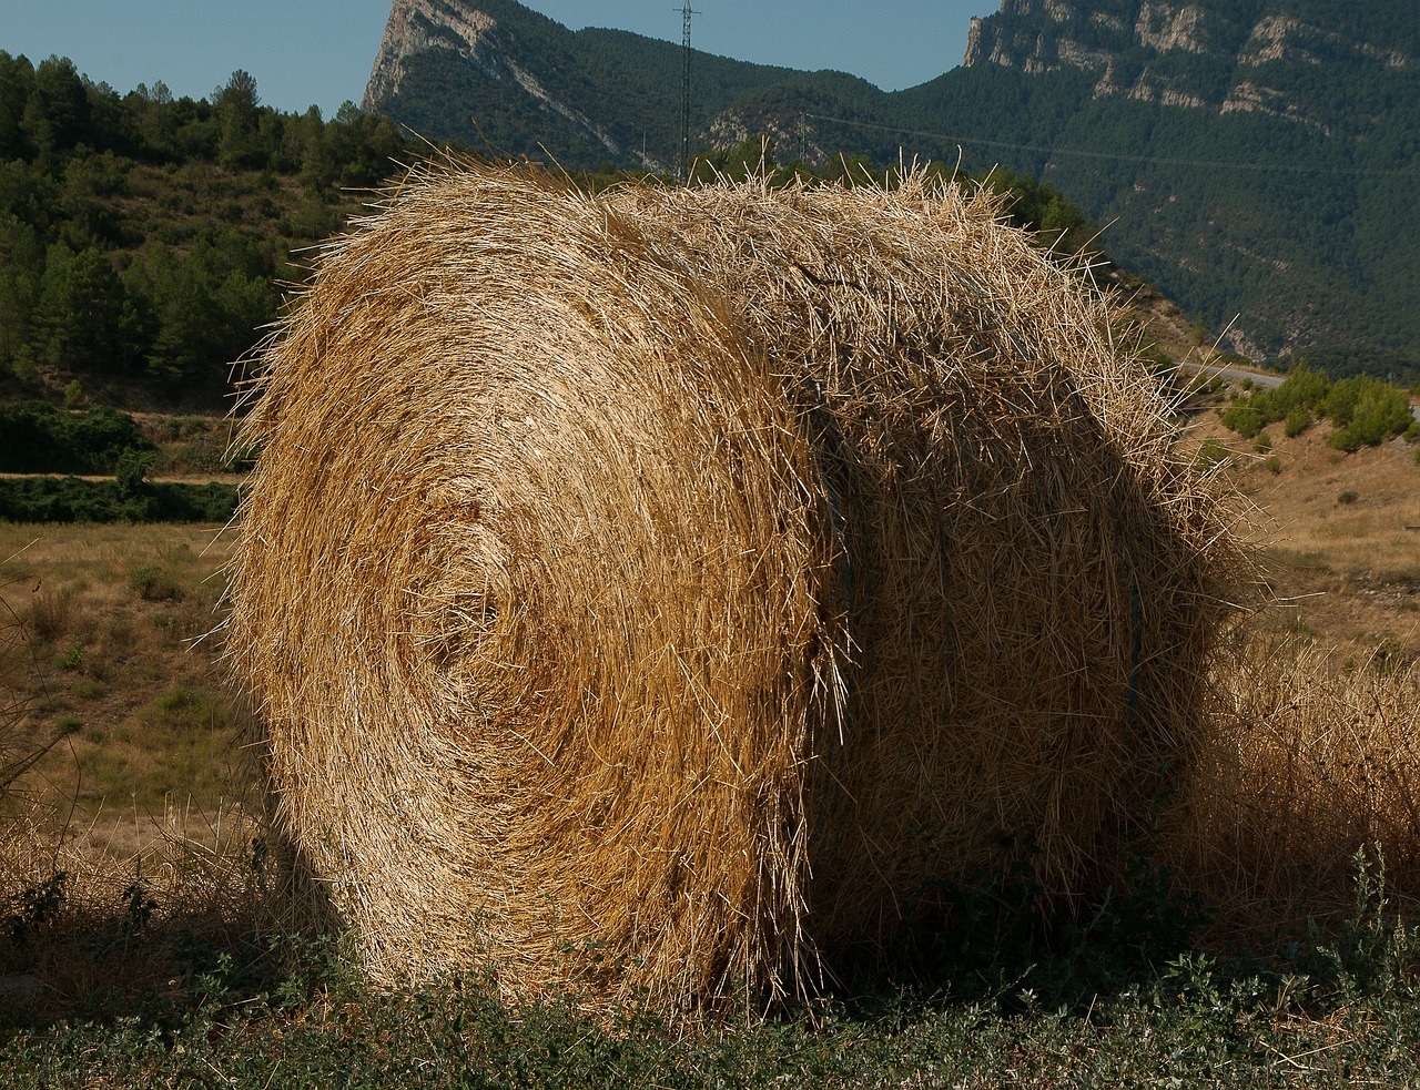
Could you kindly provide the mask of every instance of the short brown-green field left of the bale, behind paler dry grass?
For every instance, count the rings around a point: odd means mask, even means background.
[[[204,639],[217,529],[0,525],[13,744],[57,739],[17,796],[74,847],[126,859],[246,792],[241,717]]]

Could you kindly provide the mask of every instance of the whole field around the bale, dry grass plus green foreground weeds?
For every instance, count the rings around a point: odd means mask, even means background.
[[[230,542],[0,525],[0,1081],[1420,1083],[1420,467],[1204,414],[1208,439],[1268,595],[1220,661],[1189,816],[1074,915],[963,888],[892,978],[767,1019],[368,988],[261,822],[220,661]]]

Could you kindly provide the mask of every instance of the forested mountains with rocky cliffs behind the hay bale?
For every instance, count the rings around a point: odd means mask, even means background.
[[[672,172],[680,62],[513,0],[395,0],[364,105],[494,153]],[[961,67],[892,94],[694,53],[690,125],[693,148],[768,133],[781,160],[1030,172],[1225,346],[1420,380],[1413,0],[1004,0]]]

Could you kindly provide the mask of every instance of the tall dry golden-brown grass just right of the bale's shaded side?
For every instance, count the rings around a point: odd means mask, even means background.
[[[1420,673],[1372,659],[1350,673],[1304,646],[1242,644],[1220,661],[1217,742],[1194,768],[1174,857],[1233,944],[1352,908],[1358,852],[1420,908]]]

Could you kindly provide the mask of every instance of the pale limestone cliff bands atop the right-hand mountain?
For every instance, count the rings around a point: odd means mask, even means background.
[[[1416,58],[1281,14],[1258,0],[1003,0],[973,18],[964,64],[1042,74],[1079,70],[1095,95],[1217,112],[1261,111],[1315,125],[1306,102],[1272,85],[1279,65]],[[1295,81],[1292,81],[1295,82]]]

